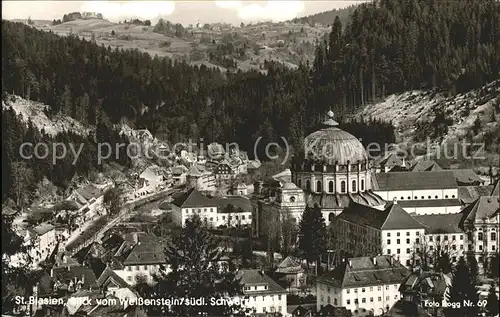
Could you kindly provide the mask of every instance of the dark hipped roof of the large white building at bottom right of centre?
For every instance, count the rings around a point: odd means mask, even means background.
[[[346,260],[332,271],[318,277],[317,281],[341,288],[399,284],[410,273],[410,270],[390,255],[380,255],[375,258],[359,257]]]

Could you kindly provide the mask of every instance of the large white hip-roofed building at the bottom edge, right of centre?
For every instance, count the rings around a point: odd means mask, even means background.
[[[401,298],[410,271],[392,256],[351,258],[316,280],[317,309],[331,304],[382,315]]]

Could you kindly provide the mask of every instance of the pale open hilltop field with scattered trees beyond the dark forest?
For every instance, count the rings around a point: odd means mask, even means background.
[[[73,34],[86,40],[94,38],[97,44],[113,49],[137,48],[151,56],[185,60],[192,65],[205,64],[223,71],[265,71],[265,60],[279,61],[292,68],[300,62],[312,62],[316,41],[330,30],[318,23],[312,27],[299,21],[240,27],[211,24],[184,28],[169,24],[161,33],[154,25],[113,23],[103,19],[74,20],[58,25],[52,25],[51,21],[33,22],[34,27],[61,36]]]

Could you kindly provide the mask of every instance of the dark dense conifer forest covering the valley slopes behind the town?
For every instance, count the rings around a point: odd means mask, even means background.
[[[342,121],[388,94],[453,94],[500,77],[500,6],[493,0],[384,0],[357,6],[344,27],[340,18],[332,22],[312,65],[266,63],[264,75],[192,67],[2,21],[2,95],[43,102],[48,116],[62,113],[89,126],[126,120],[170,142],[203,137],[252,151],[259,136],[283,136],[297,147],[328,109]],[[344,126],[364,142],[394,138],[390,123]],[[2,139],[10,168],[26,133],[18,130]],[[56,174],[64,175],[61,184],[71,175]],[[15,183],[7,175],[4,182]]]

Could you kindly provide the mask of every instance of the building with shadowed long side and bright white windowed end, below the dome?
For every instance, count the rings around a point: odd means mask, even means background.
[[[340,250],[353,255],[387,254],[408,266],[426,228],[397,201],[384,210],[353,203],[335,219],[334,226]]]

